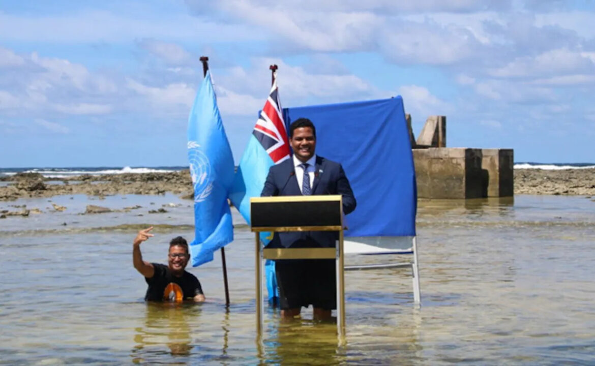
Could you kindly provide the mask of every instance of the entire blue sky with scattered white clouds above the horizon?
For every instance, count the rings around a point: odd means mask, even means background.
[[[593,24],[590,0],[3,1],[0,167],[187,165],[201,55],[236,162],[273,63],[284,107],[402,95],[448,146],[595,162]]]

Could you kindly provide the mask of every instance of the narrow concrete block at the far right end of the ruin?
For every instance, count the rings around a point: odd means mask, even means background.
[[[481,174],[487,197],[514,195],[514,152],[512,149],[482,149]]]

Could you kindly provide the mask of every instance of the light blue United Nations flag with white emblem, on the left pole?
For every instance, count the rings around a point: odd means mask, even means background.
[[[234,164],[217,99],[206,72],[188,117],[188,160],[194,186],[193,267],[213,260],[213,252],[233,241],[227,196]]]

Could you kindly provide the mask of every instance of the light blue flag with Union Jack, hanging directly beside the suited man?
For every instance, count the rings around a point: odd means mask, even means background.
[[[250,224],[250,197],[260,196],[264,182],[267,180],[269,168],[290,157],[276,75],[273,79],[275,81],[267,102],[256,120],[254,130],[248,140],[248,146],[246,146],[237,167],[229,196],[231,203],[240,211],[248,224]],[[269,235],[270,233],[261,233],[263,245],[270,242]],[[278,298],[278,294],[273,261],[267,260],[265,273],[267,275],[268,299],[274,302],[275,298]]]

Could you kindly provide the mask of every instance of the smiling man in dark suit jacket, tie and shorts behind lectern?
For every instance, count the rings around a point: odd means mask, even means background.
[[[293,155],[273,165],[261,196],[342,195],[343,212],[355,209],[355,197],[343,167],[315,155],[316,128],[308,118],[299,118],[289,127]],[[336,232],[275,233],[268,248],[329,248],[339,238]],[[314,306],[314,318],[331,316],[336,309],[334,259],[280,260],[275,263],[281,317],[300,314],[302,306]]]

